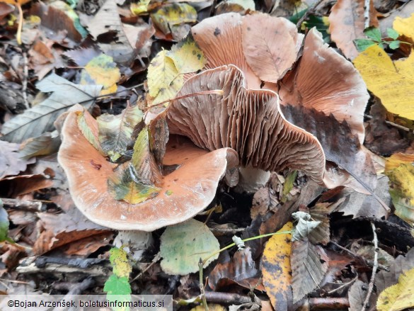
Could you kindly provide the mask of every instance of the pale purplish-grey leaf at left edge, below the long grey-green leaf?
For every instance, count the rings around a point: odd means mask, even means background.
[[[0,180],[6,176],[17,175],[21,171],[25,171],[28,164],[35,161],[21,159],[18,156],[18,144],[12,142],[3,142],[0,140]]]

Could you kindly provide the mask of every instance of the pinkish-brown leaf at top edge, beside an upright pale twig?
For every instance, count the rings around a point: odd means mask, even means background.
[[[366,38],[364,3],[364,0],[338,0],[329,15],[330,38],[350,60],[359,54],[354,40]],[[369,26],[379,26],[372,0],[369,1]]]

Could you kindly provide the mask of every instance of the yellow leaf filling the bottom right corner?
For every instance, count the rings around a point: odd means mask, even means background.
[[[379,311],[400,311],[414,307],[414,268],[401,273],[398,283],[386,288],[376,301]]]

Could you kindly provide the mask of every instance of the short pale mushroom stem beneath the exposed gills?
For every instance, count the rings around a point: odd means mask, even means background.
[[[255,169],[253,167],[240,167],[238,169],[238,184],[235,191],[253,193],[266,185],[270,178],[270,171]]]

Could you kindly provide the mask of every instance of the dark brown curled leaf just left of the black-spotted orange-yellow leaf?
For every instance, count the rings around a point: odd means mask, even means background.
[[[251,257],[251,249],[246,248],[236,251],[231,259],[217,264],[209,274],[209,287],[212,290],[225,288],[232,283],[244,288],[265,290],[259,278],[259,271],[255,268],[255,262]]]

